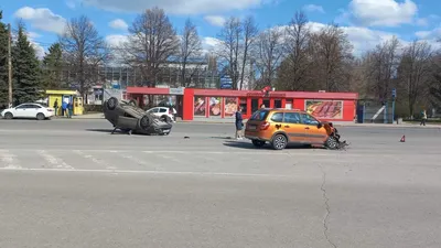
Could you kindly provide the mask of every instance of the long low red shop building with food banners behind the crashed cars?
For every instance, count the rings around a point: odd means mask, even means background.
[[[146,95],[176,96],[176,109],[183,120],[234,118],[237,106],[247,119],[263,104],[270,108],[308,110],[320,120],[354,121],[357,93],[310,93],[127,87],[127,98],[143,103]]]

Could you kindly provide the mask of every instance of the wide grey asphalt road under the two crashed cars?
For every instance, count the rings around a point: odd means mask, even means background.
[[[440,129],[342,127],[346,151],[273,151],[232,125],[110,128],[0,120],[0,247],[441,246]]]

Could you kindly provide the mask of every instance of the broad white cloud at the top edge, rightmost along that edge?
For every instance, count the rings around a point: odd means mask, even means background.
[[[397,26],[412,23],[418,7],[411,0],[352,0],[345,13],[355,23],[367,26]]]

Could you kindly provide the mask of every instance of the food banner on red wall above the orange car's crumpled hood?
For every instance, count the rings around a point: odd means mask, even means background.
[[[319,119],[343,119],[343,100],[305,100],[304,106]]]

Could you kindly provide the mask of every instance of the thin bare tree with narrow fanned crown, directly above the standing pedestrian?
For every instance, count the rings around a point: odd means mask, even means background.
[[[243,21],[241,25],[243,25],[241,30],[244,31],[244,33],[243,33],[243,44],[241,44],[243,51],[241,51],[241,73],[240,73],[239,89],[243,89],[244,85],[245,67],[247,65],[247,60],[249,55],[248,53],[250,51],[252,43],[256,40],[256,36],[259,33],[255,19],[252,17],[246,18]]]

